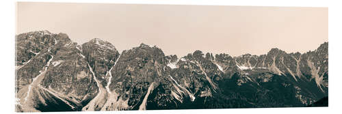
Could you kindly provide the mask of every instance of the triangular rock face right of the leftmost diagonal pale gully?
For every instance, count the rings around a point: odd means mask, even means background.
[[[62,33],[56,39],[56,46],[51,48],[53,59],[41,85],[75,98],[78,102],[96,96],[96,82],[77,44]]]

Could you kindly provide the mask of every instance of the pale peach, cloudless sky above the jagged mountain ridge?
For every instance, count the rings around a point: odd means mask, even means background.
[[[17,33],[37,30],[67,33],[78,44],[100,38],[120,52],[144,42],[179,56],[304,53],[328,41],[328,8],[18,3]]]

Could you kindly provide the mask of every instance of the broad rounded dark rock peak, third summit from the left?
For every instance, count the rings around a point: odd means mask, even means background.
[[[111,70],[110,91],[118,94],[118,99],[127,101],[127,109],[142,109],[146,105],[148,89],[152,91],[166,80],[165,55],[160,48],[140,44],[123,51],[116,66]],[[140,107],[142,106],[142,107]]]

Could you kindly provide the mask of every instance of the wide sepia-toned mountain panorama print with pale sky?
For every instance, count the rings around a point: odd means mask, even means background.
[[[16,3],[16,112],[328,106],[328,8]]]

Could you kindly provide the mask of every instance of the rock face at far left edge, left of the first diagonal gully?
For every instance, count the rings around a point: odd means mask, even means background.
[[[36,31],[16,35],[16,91],[32,82],[50,56],[44,53],[55,44],[56,34]]]

